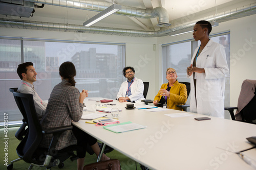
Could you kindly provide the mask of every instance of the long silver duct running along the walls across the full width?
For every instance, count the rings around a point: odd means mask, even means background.
[[[160,31],[138,31],[105,27],[89,27],[85,28],[81,25],[68,25],[63,23],[51,22],[37,22],[37,21],[24,21],[24,20],[5,20],[0,18],[0,27],[18,28],[18,29],[32,29],[32,30],[47,30],[47,31],[61,31],[61,32],[82,32],[89,34],[105,34],[105,35],[120,35],[120,36],[136,36],[136,37],[161,37],[167,36],[172,32],[180,31],[186,28],[193,28],[198,20],[208,20],[225,22],[232,19],[237,19],[249,15],[256,14],[256,3],[249,4],[236,9],[231,9],[214,16],[207,18],[197,19],[190,21],[176,27],[169,27]],[[135,14],[134,14],[135,15]]]

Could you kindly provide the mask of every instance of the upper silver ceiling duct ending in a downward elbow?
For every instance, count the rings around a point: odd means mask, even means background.
[[[66,7],[66,8],[75,8],[80,10],[89,10],[89,11],[96,11],[101,12],[106,8],[113,5],[113,3],[106,3],[106,2],[94,2],[94,1],[75,1],[75,0],[24,0],[30,3],[40,3],[40,4],[47,4],[59,7]],[[159,17],[159,27],[167,27],[170,26],[169,23],[169,16],[166,9],[163,7],[157,7],[155,9],[140,9],[135,7],[129,6],[121,6],[122,9],[115,12],[115,14],[123,15],[123,16],[130,16],[136,18],[155,18]]]

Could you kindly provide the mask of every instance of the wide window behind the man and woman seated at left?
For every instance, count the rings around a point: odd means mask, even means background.
[[[53,87],[61,81],[58,69],[65,61],[74,63],[76,87],[80,91],[87,89],[89,97],[115,99],[124,81],[124,54],[123,44],[0,39],[0,113],[8,113],[8,122],[22,119],[9,92],[9,88],[20,84],[16,69],[22,60],[34,64],[37,81],[33,84],[42,100],[48,100]],[[3,116],[0,117],[1,122]]]

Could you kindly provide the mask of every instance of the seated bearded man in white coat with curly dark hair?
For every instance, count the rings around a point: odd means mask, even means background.
[[[143,91],[144,84],[142,80],[134,77],[135,69],[133,67],[124,67],[123,76],[127,78],[127,81],[121,84],[121,87],[117,93],[116,99],[119,102],[135,102],[140,103],[144,100]]]

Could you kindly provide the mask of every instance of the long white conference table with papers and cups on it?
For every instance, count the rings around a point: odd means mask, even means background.
[[[84,104],[91,111],[95,109],[93,101],[86,99]],[[246,138],[256,136],[256,125],[211,116],[207,116],[210,120],[199,121],[195,117],[205,115],[173,109],[128,110],[125,109],[127,102],[115,100],[105,104],[116,104],[106,107],[122,110],[118,115],[120,123],[131,121],[146,128],[114,133],[102,126],[88,124],[84,119],[73,125],[151,169],[253,169],[236,152],[254,146]],[[189,116],[182,116],[184,113]],[[255,148],[243,154],[256,161]]]

